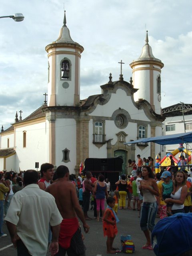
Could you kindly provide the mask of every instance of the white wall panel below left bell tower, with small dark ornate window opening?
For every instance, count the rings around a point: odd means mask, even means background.
[[[76,165],[76,121],[71,118],[56,119],[56,166],[65,165],[74,173]],[[70,150],[70,161],[62,162],[62,150]]]

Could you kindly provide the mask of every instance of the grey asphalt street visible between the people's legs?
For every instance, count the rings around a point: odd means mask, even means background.
[[[89,216],[93,217],[93,211],[89,210]],[[133,210],[118,210],[118,218],[120,222],[118,226],[118,234],[114,240],[114,247],[120,248],[120,235],[131,235],[135,244],[135,256],[154,256],[154,252],[150,250],[143,250],[141,247],[145,244],[143,232],[140,230],[138,211]],[[159,218],[156,218],[158,221]],[[106,253],[106,238],[103,236],[102,222],[96,222],[96,220],[90,220],[90,232],[85,234],[86,256],[105,256],[110,255]],[[3,226],[3,231],[8,234],[6,224]],[[6,246],[8,246],[6,248]],[[6,238],[0,238],[0,255],[1,256],[16,256],[16,250],[11,245],[10,236]],[[120,253],[120,255],[125,255]],[[47,256],[50,256],[48,253]]]

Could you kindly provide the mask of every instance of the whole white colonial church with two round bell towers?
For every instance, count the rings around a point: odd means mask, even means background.
[[[80,100],[80,58],[84,48],[74,42],[64,24],[59,38],[46,46],[48,97],[30,116],[0,133],[0,170],[34,169],[44,162],[64,164],[78,172],[86,158],[122,156],[136,160],[159,152],[155,144],[125,142],[162,135],[161,69],[164,64],[152,54],[146,34],[141,56],[130,64],[130,82],[123,75],[109,75],[101,94]],[[82,55],[83,57],[83,55]],[[45,67],[46,68],[46,67]]]

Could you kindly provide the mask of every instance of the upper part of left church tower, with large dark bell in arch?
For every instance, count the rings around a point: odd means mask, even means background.
[[[45,50],[48,53],[48,106],[77,106],[80,102],[80,58],[84,48],[72,40],[65,11],[58,39]]]

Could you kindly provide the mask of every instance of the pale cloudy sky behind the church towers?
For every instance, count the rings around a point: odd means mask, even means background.
[[[1,0],[0,16],[21,12],[23,22],[0,19],[0,126],[8,128],[16,111],[24,119],[43,104],[47,92],[45,46],[63,25],[84,47],[80,98],[101,93],[109,73],[124,80],[138,58],[148,30],[149,44],[162,60],[162,108],[192,98],[192,1],[189,0]]]

